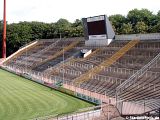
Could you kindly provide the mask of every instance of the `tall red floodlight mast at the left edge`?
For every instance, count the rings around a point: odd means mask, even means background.
[[[4,0],[4,13],[3,13],[2,58],[6,58],[6,0]]]

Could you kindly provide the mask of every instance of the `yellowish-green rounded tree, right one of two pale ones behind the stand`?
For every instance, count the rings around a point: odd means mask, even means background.
[[[147,33],[148,26],[144,22],[137,22],[135,25],[135,33]]]

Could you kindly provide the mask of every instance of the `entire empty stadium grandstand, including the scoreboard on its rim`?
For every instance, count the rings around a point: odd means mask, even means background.
[[[83,23],[85,37],[35,40],[1,67],[97,104],[60,120],[160,117],[160,34],[115,35],[106,16]]]

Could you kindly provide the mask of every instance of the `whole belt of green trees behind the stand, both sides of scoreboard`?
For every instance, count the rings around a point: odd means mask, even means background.
[[[109,16],[116,34],[160,32],[160,10],[153,14],[147,9],[133,9],[127,16],[120,14]],[[2,21],[0,21],[0,45],[2,40]],[[55,23],[20,22],[7,24],[7,55],[15,52],[22,45],[35,39],[83,36],[82,21],[76,19],[70,23],[59,19]]]

